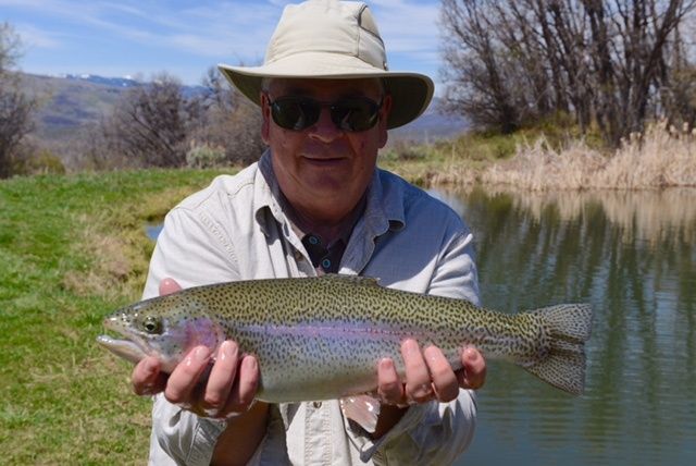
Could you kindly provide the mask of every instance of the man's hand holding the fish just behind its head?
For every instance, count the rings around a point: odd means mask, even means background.
[[[164,279],[160,283],[160,295],[181,289],[174,280]],[[224,418],[232,413],[245,413],[259,385],[257,359],[240,355],[236,342],[225,341],[220,345],[206,379],[201,376],[209,368],[212,356],[210,348],[196,346],[171,375],[161,372],[159,359],[148,356],[133,370],[133,389],[138,395],[164,392],[164,397],[171,403],[200,416]]]

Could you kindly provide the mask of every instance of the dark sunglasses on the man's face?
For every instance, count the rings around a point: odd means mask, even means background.
[[[319,121],[322,108],[328,107],[336,127],[355,133],[370,130],[377,123],[382,101],[377,103],[366,97],[347,97],[326,103],[311,97],[285,96],[270,105],[273,121],[285,130],[307,130]]]

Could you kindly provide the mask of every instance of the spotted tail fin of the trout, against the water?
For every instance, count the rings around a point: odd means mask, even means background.
[[[592,307],[588,304],[561,304],[533,310],[549,331],[550,345],[546,358],[523,366],[551,385],[574,395],[585,390],[585,341],[592,331]]]

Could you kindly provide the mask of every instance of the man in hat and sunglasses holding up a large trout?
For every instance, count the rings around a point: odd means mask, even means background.
[[[387,130],[427,107],[433,83],[386,71],[364,4],[289,5],[262,66],[221,71],[260,105],[269,150],[167,214],[145,297],[179,286],[338,272],[478,302],[472,237],[461,219],[376,169]],[[170,376],[154,358],[136,366],[136,393],[162,392],[151,463],[446,464],[473,436],[473,393],[461,389],[485,379],[474,348],[462,348],[456,364],[462,369],[455,371],[439,348],[407,340],[405,380],[391,359],[375,361],[382,407],[373,433],[345,419],[337,401],[252,403],[263,368],[243,352],[232,341],[214,355],[196,347]]]

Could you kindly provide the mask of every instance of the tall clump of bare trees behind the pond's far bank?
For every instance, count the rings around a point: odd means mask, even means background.
[[[693,68],[687,53],[678,53],[685,47],[679,27],[695,7],[696,0],[444,0],[450,108],[500,128],[569,112],[581,128],[596,123],[618,144],[679,107],[668,103],[687,87],[684,70]]]

